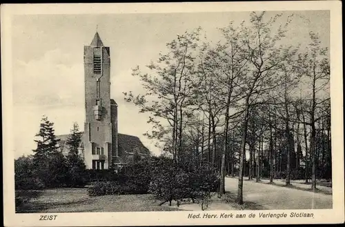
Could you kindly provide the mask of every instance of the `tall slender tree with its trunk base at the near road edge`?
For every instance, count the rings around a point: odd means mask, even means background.
[[[244,57],[248,59],[251,67],[251,73],[246,75],[244,79],[244,86],[242,92],[245,94],[243,103],[244,106],[244,120],[242,123],[242,146],[239,162],[239,184],[237,193],[237,202],[243,204],[243,173],[244,173],[244,155],[246,147],[246,137],[248,128],[248,115],[250,106],[255,106],[259,103],[265,103],[265,94],[268,90],[274,88],[279,80],[273,77],[275,70],[279,68],[282,63],[292,55],[289,47],[278,46],[279,41],[282,41],[286,33],[286,27],[290,19],[284,26],[279,26],[277,31],[273,34],[272,25],[275,24],[281,14],[275,17],[264,20],[265,12],[250,14],[250,26],[246,27],[242,24],[241,42],[244,43],[243,52]]]

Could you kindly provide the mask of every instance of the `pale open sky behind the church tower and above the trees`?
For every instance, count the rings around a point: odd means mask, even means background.
[[[155,141],[144,137],[148,115],[124,101],[122,92],[144,92],[132,68],[155,61],[166,43],[198,26],[217,42],[230,21],[248,20],[250,12],[168,14],[17,15],[12,20],[12,85],[14,157],[32,154],[34,135],[43,115],[55,124],[56,135],[68,134],[77,122],[83,130],[83,46],[97,31],[110,47],[111,98],[119,105],[119,133],[135,135],[156,155]],[[270,17],[279,12],[268,12]],[[292,12],[284,12],[284,17]],[[290,24],[290,43],[308,43],[308,31],[319,33],[329,46],[329,12],[298,11]],[[283,17],[283,20],[284,20]],[[98,26],[97,26],[98,25]]]

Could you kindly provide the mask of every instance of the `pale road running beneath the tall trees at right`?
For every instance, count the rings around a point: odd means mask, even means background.
[[[225,189],[237,195],[238,179],[226,177]],[[244,179],[244,203],[258,210],[331,209],[332,195],[256,183]]]

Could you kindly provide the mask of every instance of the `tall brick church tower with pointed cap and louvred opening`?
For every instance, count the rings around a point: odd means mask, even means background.
[[[85,109],[83,157],[86,167],[108,169],[117,159],[117,103],[110,99],[110,49],[96,32],[84,46]]]

